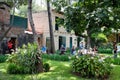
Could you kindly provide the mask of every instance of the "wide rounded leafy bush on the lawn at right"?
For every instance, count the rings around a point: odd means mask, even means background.
[[[109,63],[99,57],[90,57],[89,55],[75,58],[72,63],[72,71],[74,73],[88,78],[107,78],[111,69]]]

